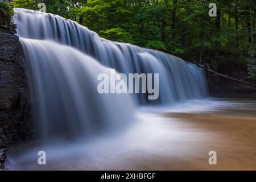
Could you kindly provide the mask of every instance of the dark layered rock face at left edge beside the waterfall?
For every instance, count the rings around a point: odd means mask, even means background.
[[[0,32],[0,149],[31,138],[30,90],[16,35]]]

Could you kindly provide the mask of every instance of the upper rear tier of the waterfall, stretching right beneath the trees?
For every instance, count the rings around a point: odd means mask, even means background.
[[[148,101],[135,95],[139,105],[174,104],[200,99],[208,94],[203,69],[160,51],[100,38],[88,28],[58,15],[15,9],[18,35],[29,39],[53,40],[75,47],[101,64],[121,73],[159,73],[159,99]]]

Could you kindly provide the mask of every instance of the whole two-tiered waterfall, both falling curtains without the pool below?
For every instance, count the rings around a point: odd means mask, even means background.
[[[159,99],[134,94],[138,105],[207,96],[204,71],[178,57],[110,42],[57,15],[15,9],[14,20],[31,77],[36,119],[46,137],[88,134],[131,121],[129,95],[97,92],[97,75],[109,74],[109,68],[126,74],[159,73]]]

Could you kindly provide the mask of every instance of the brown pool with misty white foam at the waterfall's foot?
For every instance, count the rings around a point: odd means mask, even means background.
[[[38,165],[38,151],[46,151],[46,165]],[[216,165],[208,162],[210,151],[216,151]],[[256,100],[209,98],[142,108],[134,125],[119,134],[16,145],[6,169],[255,170]]]

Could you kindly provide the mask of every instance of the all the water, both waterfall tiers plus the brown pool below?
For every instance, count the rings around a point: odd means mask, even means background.
[[[201,99],[207,96],[203,69],[178,57],[102,39],[60,16],[15,13],[34,121],[47,140],[12,146],[5,169],[255,169],[256,102],[251,98]],[[113,72],[159,73],[153,84],[159,84],[159,99],[100,94],[98,75],[109,76],[112,88],[118,82]],[[102,136],[103,130],[110,132]],[[212,150],[225,154],[214,168],[206,158]],[[43,161],[47,165],[39,165]]]

